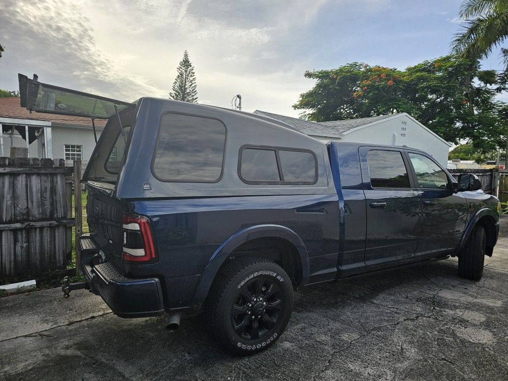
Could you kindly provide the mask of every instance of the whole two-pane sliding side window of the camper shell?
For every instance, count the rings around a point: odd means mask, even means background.
[[[245,147],[240,154],[239,175],[246,183],[314,184],[316,158],[305,150]]]

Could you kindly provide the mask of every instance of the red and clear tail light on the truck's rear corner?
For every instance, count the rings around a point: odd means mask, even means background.
[[[152,262],[155,260],[155,244],[148,218],[124,214],[122,219],[123,260]]]

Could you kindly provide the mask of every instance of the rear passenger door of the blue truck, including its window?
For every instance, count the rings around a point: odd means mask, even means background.
[[[360,147],[367,206],[365,264],[410,259],[422,230],[420,190],[402,149]]]

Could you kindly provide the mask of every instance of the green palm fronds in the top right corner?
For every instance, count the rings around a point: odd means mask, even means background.
[[[465,0],[459,17],[466,20],[455,35],[452,49],[470,59],[488,56],[508,38],[508,0]],[[508,50],[502,49],[508,58]]]

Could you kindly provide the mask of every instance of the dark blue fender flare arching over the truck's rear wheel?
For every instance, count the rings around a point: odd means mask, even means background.
[[[220,266],[223,265],[235,248],[252,239],[269,237],[285,239],[296,247],[300,255],[302,267],[302,281],[300,285],[306,284],[309,278],[309,256],[305,244],[298,234],[280,225],[256,225],[236,232],[215,250],[199,278],[192,304],[199,305],[205,301]]]

